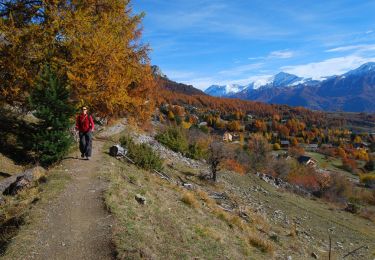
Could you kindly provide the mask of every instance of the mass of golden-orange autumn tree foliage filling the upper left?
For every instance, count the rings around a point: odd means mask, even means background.
[[[23,102],[49,63],[68,76],[71,98],[97,114],[147,118],[154,79],[142,18],[127,0],[2,1],[2,99]]]

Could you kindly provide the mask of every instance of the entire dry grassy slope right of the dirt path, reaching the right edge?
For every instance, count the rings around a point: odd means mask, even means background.
[[[121,258],[305,259],[312,252],[326,257],[328,233],[335,257],[361,245],[368,248],[360,250],[357,259],[374,257],[374,223],[322,201],[281,192],[255,176],[224,172],[219,183],[211,185],[196,177],[198,170],[167,162],[165,171],[175,179],[188,180],[206,194],[225,192],[223,205],[236,209],[221,214],[214,209],[216,202],[213,206],[205,201],[199,191],[192,192],[195,202],[187,205],[181,201],[184,189],[113,158],[105,164],[103,174],[111,182],[106,203],[117,219],[114,240]],[[147,204],[139,205],[136,194],[144,195]],[[238,218],[238,208],[246,209],[250,223]],[[281,217],[275,215],[278,210]]]

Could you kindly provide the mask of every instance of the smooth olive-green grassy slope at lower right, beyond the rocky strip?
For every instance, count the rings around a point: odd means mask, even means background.
[[[263,213],[268,216],[272,226],[279,230],[281,247],[290,254],[297,254],[299,258],[306,257],[312,252],[326,256],[328,234],[331,234],[334,243],[333,253],[338,259],[362,245],[369,248],[356,255],[356,259],[372,259],[375,256],[373,222],[320,200],[281,192],[253,175],[223,177],[226,188],[244,203],[263,205]],[[278,210],[281,210],[282,214],[275,214]],[[288,230],[294,229],[294,225],[298,233],[295,240],[287,235]],[[328,231],[329,229],[332,231]],[[340,248],[337,242],[342,244],[343,248]]]

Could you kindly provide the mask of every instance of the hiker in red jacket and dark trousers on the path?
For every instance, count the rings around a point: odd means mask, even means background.
[[[94,120],[87,114],[87,107],[82,107],[82,112],[77,116],[76,130],[79,131],[79,150],[81,158],[90,160],[92,150],[92,132],[94,131]]]

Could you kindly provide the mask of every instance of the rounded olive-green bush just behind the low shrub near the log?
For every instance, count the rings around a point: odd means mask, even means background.
[[[181,128],[169,127],[166,131],[158,134],[156,140],[175,152],[186,155],[189,151],[187,137]]]

